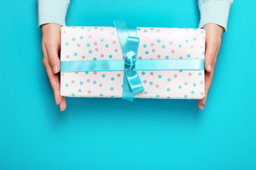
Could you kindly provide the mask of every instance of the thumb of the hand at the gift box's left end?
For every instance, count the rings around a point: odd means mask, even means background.
[[[57,41],[46,43],[48,60],[50,62],[50,66],[54,74],[60,72],[60,59],[58,57],[59,50],[60,50],[60,46]]]

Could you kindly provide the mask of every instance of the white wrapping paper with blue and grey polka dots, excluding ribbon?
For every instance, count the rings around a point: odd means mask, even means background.
[[[77,29],[78,28],[78,29]],[[123,60],[113,27],[63,27],[61,56],[70,60]],[[137,28],[137,60],[204,58],[205,31],[191,28]],[[176,38],[177,37],[177,38]],[[203,98],[204,74],[198,70],[138,70],[144,92],[135,98]],[[123,72],[61,72],[64,96],[121,97]]]

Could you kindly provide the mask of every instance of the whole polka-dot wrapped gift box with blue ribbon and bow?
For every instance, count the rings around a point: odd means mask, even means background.
[[[205,30],[62,27],[60,94],[70,97],[203,98]]]

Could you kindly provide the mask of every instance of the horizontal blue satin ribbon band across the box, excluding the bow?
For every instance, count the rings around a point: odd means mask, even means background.
[[[137,71],[203,70],[204,59],[137,60]],[[116,72],[124,71],[124,60],[60,61],[60,72]]]

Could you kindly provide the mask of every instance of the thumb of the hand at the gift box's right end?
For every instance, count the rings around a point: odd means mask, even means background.
[[[218,49],[218,41],[206,40],[205,67],[207,72],[211,72],[213,70],[213,62],[216,57],[217,49]]]

